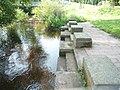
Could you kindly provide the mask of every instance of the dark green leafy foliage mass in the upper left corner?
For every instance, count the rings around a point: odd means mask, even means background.
[[[0,0],[0,26],[11,23],[15,14],[15,6],[9,0]]]

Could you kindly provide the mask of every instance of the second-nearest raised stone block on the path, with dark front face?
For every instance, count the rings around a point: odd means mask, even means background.
[[[92,46],[91,37],[85,33],[74,33],[73,42],[76,48]]]

